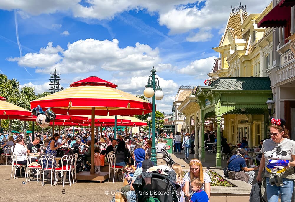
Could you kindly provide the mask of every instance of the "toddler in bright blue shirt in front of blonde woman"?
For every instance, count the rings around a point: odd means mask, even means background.
[[[195,192],[191,196],[191,202],[208,202],[209,198],[207,193],[201,189],[202,182],[198,178],[194,178],[191,181],[191,190]]]

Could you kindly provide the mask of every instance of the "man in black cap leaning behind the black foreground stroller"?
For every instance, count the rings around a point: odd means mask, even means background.
[[[130,184],[130,189],[128,190],[127,186],[123,187],[121,189],[123,195],[127,198],[128,202],[136,202],[136,193],[134,191],[134,188],[132,186],[132,184],[134,183],[134,181],[136,180],[137,177],[140,176],[140,174],[143,172],[146,172],[149,168],[153,167],[153,162],[151,160],[144,160],[142,161],[142,167],[141,168],[137,168],[134,172],[133,178]],[[128,179],[128,177],[127,177]],[[128,192],[128,193],[127,193]],[[126,196],[127,195],[127,196]]]

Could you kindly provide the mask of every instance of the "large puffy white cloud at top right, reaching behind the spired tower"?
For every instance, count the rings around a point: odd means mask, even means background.
[[[262,0],[248,0],[247,12],[259,13],[267,5],[269,1]],[[230,6],[237,5],[237,1],[219,1],[210,0],[205,1],[204,6],[178,6],[168,12],[160,11],[159,23],[165,25],[170,29],[171,34],[185,33],[192,29],[199,29],[202,27],[220,29],[227,21],[230,13]],[[217,17],[218,16],[218,17]]]

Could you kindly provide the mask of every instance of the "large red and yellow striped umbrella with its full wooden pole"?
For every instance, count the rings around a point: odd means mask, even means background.
[[[40,105],[58,114],[91,115],[91,138],[94,139],[95,115],[142,115],[152,112],[152,103],[116,89],[117,85],[99,77],[70,84],[70,88],[31,101],[31,109]],[[91,142],[94,148],[94,141]],[[91,174],[94,174],[94,149],[91,150]]]

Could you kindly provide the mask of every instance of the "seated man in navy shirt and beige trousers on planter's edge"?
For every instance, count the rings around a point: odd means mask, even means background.
[[[227,161],[228,177],[233,180],[242,180],[247,182],[248,184],[252,184],[252,181],[255,177],[254,170],[257,170],[258,167],[247,168],[244,159],[245,154],[246,150],[242,148],[238,151],[236,155],[233,155]]]

